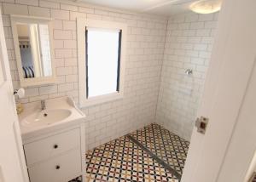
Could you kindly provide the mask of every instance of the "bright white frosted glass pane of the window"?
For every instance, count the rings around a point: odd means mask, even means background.
[[[89,29],[88,97],[117,92],[119,31]]]

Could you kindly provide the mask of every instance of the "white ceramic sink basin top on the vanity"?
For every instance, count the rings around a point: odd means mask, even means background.
[[[45,100],[45,107],[42,110],[40,101],[24,105],[24,111],[19,115],[22,139],[84,122],[84,113],[71,98]]]

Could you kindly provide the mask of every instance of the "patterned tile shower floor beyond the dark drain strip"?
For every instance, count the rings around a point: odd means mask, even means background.
[[[183,173],[184,163],[189,150],[189,142],[172,134],[156,123],[130,134],[134,139],[159,156],[177,173]]]

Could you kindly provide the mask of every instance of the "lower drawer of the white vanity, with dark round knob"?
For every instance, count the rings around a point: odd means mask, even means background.
[[[82,174],[79,149],[28,168],[31,182],[63,182]]]

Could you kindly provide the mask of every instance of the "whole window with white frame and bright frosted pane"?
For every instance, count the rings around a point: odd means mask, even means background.
[[[122,98],[125,34],[125,24],[78,19],[81,107]]]

